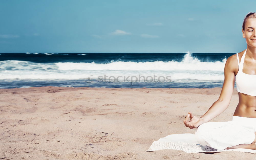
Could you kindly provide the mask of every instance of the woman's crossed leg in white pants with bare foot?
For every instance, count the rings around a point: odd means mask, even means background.
[[[250,132],[233,121],[201,124],[196,128],[195,138],[201,145],[211,146],[218,151],[235,148],[256,150],[256,132]],[[226,143],[233,143],[236,146],[227,147]]]

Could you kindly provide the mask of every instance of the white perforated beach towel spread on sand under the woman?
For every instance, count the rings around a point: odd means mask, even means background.
[[[152,145],[146,152],[158,151],[158,150],[183,150],[187,153],[214,153],[214,152],[226,152],[226,151],[239,151],[239,152],[247,152],[247,153],[256,153],[256,150],[250,149],[230,149],[230,150],[221,150],[217,151],[209,146],[200,145],[196,139],[195,134],[184,133],[184,134],[170,134],[164,138],[160,138],[157,141],[154,141]]]

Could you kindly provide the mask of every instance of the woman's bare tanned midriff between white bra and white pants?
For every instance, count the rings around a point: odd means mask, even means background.
[[[233,116],[256,118],[256,96],[238,92],[239,103]]]

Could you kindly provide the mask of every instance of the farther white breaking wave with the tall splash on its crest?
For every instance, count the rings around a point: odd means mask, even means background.
[[[124,62],[112,61],[111,63],[98,64],[98,63],[72,63],[72,62],[58,62],[55,65],[59,70],[210,70],[210,71],[223,71],[226,63],[226,58],[222,61],[216,62],[202,62],[197,58],[191,56],[190,53],[186,54],[181,62],[177,61],[154,61],[154,62]]]

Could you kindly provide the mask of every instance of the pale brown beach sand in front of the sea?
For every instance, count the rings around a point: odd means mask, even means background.
[[[183,124],[203,115],[221,88],[0,89],[1,159],[253,159],[244,152],[145,152],[169,134],[195,133]],[[225,112],[232,120],[236,88]]]

